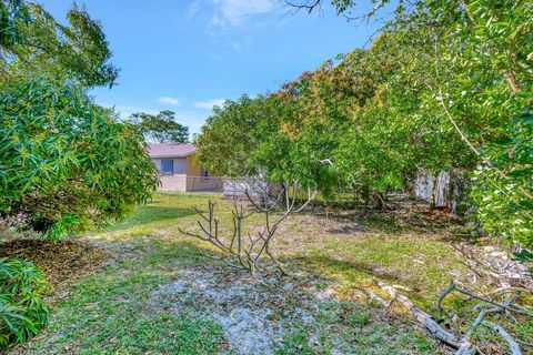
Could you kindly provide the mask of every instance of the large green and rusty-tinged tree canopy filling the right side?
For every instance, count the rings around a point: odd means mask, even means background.
[[[354,1],[332,3],[356,18]],[[456,172],[471,178],[485,230],[532,245],[532,1],[400,1],[368,50],[215,111],[195,140],[199,160],[221,173],[252,166],[274,181],[292,174],[322,191],[378,197],[410,189],[420,169]],[[269,114],[259,114],[264,106]]]

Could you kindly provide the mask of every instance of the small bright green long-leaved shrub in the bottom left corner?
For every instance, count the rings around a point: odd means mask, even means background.
[[[24,343],[48,323],[42,294],[50,286],[33,263],[0,258],[0,347]]]

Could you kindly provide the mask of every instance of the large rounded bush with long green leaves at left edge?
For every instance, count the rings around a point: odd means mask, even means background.
[[[0,89],[0,217],[49,239],[120,220],[158,186],[142,135],[74,85]]]

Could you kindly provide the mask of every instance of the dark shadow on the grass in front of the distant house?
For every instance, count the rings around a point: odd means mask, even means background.
[[[138,207],[135,213],[122,222],[119,222],[109,227],[109,231],[120,231],[139,226],[148,223],[162,222],[172,219],[187,217],[195,214],[193,209],[183,207],[165,207],[147,204]]]

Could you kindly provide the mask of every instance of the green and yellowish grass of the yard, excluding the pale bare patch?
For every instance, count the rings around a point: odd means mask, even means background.
[[[205,209],[217,201],[222,231],[231,225],[233,202],[218,194],[157,193],[135,213],[108,230],[88,237],[99,240],[114,251],[118,262],[101,273],[80,278],[64,297],[53,304],[52,323],[42,335],[14,353],[29,354],[227,354],[222,327],[199,317],[192,308],[154,311],[150,296],[159,285],[168,284],[180,270],[213,263],[199,256],[197,246],[205,243],[181,235],[178,229],[194,229],[192,206]],[[247,220],[261,223],[260,215]],[[330,335],[336,335],[356,354],[435,354],[435,344],[413,328],[402,315],[383,320],[373,304],[356,305],[361,292],[385,295],[372,277],[390,284],[416,288],[410,298],[431,311],[440,291],[450,282],[449,271],[464,271],[452,246],[434,234],[392,227],[373,220],[362,222],[361,232],[339,233],[324,217],[291,217],[273,245],[293,272],[316,275],[318,291],[333,283],[343,300],[335,310],[321,306],[313,324],[291,324],[283,342],[273,339],[276,354],[328,354]],[[333,225],[335,226],[335,225]],[[394,232],[392,232],[394,231]],[[125,257],[120,257],[127,253]],[[447,302],[446,305],[454,305]],[[310,339],[313,329],[322,338]],[[532,323],[514,327],[527,334]],[[490,338],[491,335],[486,334]]]

